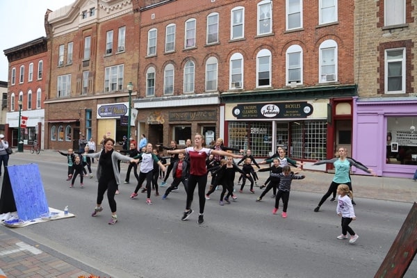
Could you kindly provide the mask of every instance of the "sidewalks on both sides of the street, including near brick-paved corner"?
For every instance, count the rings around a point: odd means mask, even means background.
[[[53,150],[45,150],[40,154],[31,154],[27,150],[23,153],[14,153],[11,156],[26,158],[28,163],[42,161],[63,163],[65,157]],[[13,157],[9,163],[13,163]],[[97,164],[93,164],[97,165]],[[122,163],[122,172],[126,171],[127,164]],[[268,178],[268,172],[257,172],[259,186]],[[301,171],[306,179],[293,183],[292,190],[324,194],[329,188],[333,174],[324,172]],[[355,198],[384,199],[396,202],[416,202],[417,182],[411,179],[398,179],[386,177],[370,177],[365,175],[352,175],[352,187]],[[318,200],[317,200],[318,201]],[[10,228],[0,227],[0,278],[1,270],[6,277],[31,278],[78,278],[90,274],[108,278],[109,275],[90,268],[79,261],[60,254],[49,247],[39,245],[29,238],[19,236]]]

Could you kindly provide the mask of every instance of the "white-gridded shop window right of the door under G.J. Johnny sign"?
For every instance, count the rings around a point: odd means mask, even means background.
[[[291,149],[292,158],[322,160],[326,158],[327,122],[293,122]]]

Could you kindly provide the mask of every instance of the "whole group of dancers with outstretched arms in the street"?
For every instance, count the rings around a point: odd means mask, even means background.
[[[116,204],[114,200],[115,191],[117,186],[120,184],[120,161],[126,161],[129,164],[128,172],[124,183],[129,183],[130,171],[133,168],[133,172],[136,173],[137,165],[140,163],[140,172],[135,174],[138,184],[131,194],[131,198],[134,199],[138,197],[138,190],[142,188],[142,183],[146,181],[146,185],[143,188],[142,192],[147,193],[147,204],[152,204],[150,199],[152,188],[156,190],[155,195],[158,196],[158,177],[163,177],[163,184],[165,186],[167,177],[172,171],[172,183],[165,190],[165,193],[162,195],[162,199],[167,199],[168,195],[172,190],[176,190],[180,183],[183,183],[183,186],[186,190],[186,209],[183,211],[182,221],[188,220],[190,215],[194,212],[191,208],[193,204],[193,196],[195,188],[198,188],[198,199],[199,199],[199,214],[197,218],[197,223],[202,224],[204,222],[204,207],[206,200],[210,199],[211,193],[214,192],[215,188],[222,186],[222,192],[220,193],[219,204],[223,206],[224,204],[231,204],[231,199],[236,199],[234,195],[234,180],[236,177],[236,172],[240,174],[240,179],[242,183],[240,185],[239,192],[243,193],[245,188],[246,181],[250,182],[250,193],[254,192],[254,183],[259,179],[256,175],[256,172],[269,171],[270,176],[267,181],[263,183],[260,188],[265,188],[261,195],[256,198],[256,202],[260,202],[262,198],[270,189],[273,190],[273,197],[275,197],[275,206],[272,209],[272,213],[276,214],[279,208],[279,202],[282,201],[282,212],[281,217],[287,218],[287,208],[288,208],[288,199],[291,191],[291,181],[293,179],[304,179],[304,175],[300,175],[297,172],[291,171],[290,165],[300,169],[303,163],[294,161],[291,158],[286,156],[284,149],[279,148],[277,153],[269,158],[266,158],[260,163],[256,163],[254,157],[250,150],[247,150],[246,154],[243,156],[242,149],[234,149],[230,147],[225,147],[221,138],[216,140],[215,145],[212,147],[205,147],[204,136],[201,134],[196,134],[194,138],[194,145],[191,146],[190,140],[188,140],[188,145],[183,148],[177,148],[175,141],[171,142],[170,147],[163,147],[167,149],[167,154],[170,157],[170,163],[162,163],[161,157],[158,153],[158,149],[154,148],[151,143],[147,143],[146,147],[142,149],[142,152],[136,151],[136,146],[131,145],[129,156],[119,154],[114,152],[113,145],[114,141],[111,138],[108,138],[104,142],[104,149],[101,152],[95,154],[88,154],[88,150],[75,156],[72,149],[68,150],[68,153],[65,154],[60,152],[60,154],[68,156],[69,168],[68,168],[68,179],[72,179],[72,186],[74,185],[74,179],[76,175],[80,174],[81,176],[81,186],[82,176],[84,169],[79,167],[83,165],[82,160],[88,160],[88,158],[97,158],[97,179],[99,181],[99,188],[97,190],[97,206],[95,211],[92,213],[92,216],[96,216],[97,213],[102,211],[101,202],[103,200],[104,193],[107,190],[108,202],[111,206],[112,218],[109,224],[115,224],[117,222],[116,215]],[[161,147],[157,145],[157,147]],[[239,152],[239,154],[233,154],[231,152]],[[108,154],[111,153],[111,154]],[[113,155],[113,153],[117,153]],[[84,158],[85,157],[85,158]],[[234,162],[234,158],[240,158],[238,163]],[[238,165],[243,162],[243,166],[240,169]],[[117,165],[117,163],[119,163]],[[255,170],[252,166],[252,163],[257,167]],[[260,167],[259,164],[272,163],[270,167]],[[320,210],[320,206],[325,202],[325,200],[332,194],[338,194],[338,205],[336,212],[342,218],[342,234],[338,236],[338,239],[348,238],[347,233],[350,234],[350,243],[354,243],[359,236],[354,233],[352,228],[349,227],[349,224],[352,220],[356,220],[356,215],[354,215],[353,209],[353,193],[352,193],[352,183],[350,180],[350,167],[355,166],[364,172],[368,172],[376,176],[373,170],[369,169],[365,165],[354,161],[353,158],[347,157],[346,149],[339,148],[336,158],[329,160],[317,161],[313,165],[320,165],[324,163],[332,163],[334,165],[335,174],[332,183],[327,190],[327,193],[323,195],[318,203],[318,206],[314,209],[315,212]],[[89,163],[85,164],[88,165]],[[70,168],[70,165],[72,168]],[[167,168],[165,167],[167,166]],[[108,171],[103,172],[107,169]],[[90,167],[89,167],[90,170]],[[91,172],[91,171],[90,171]],[[103,174],[104,173],[104,174]],[[211,184],[206,193],[206,183],[208,181],[208,173],[211,173]],[[86,174],[86,172],[84,172]],[[91,176],[92,177],[92,174]],[[105,177],[105,179],[103,178]]]

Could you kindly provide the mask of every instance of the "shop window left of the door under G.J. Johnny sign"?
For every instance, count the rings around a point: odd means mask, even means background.
[[[266,157],[272,152],[271,122],[229,122],[228,147],[250,149],[253,156]]]

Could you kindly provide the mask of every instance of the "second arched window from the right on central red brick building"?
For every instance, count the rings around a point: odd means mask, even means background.
[[[302,84],[302,48],[294,44],[286,51],[286,83]]]

